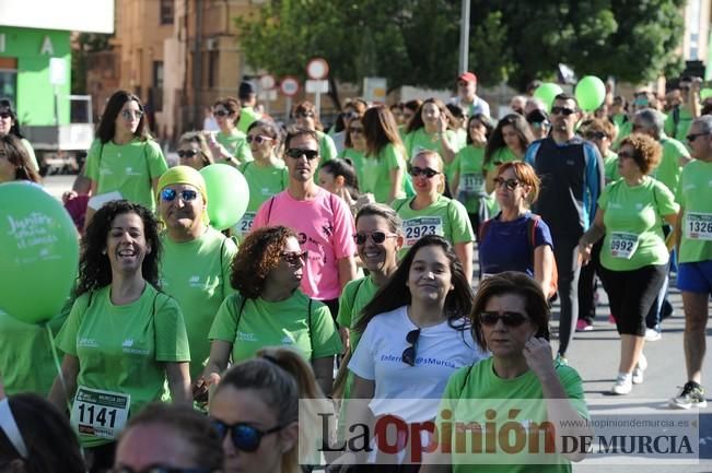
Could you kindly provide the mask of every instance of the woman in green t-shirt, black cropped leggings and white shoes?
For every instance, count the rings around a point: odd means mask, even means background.
[[[605,235],[600,280],[621,343],[614,394],[628,394],[643,382],[645,316],[663,286],[673,248],[672,239],[666,244],[663,236],[663,222],[675,225],[679,205],[665,185],[649,176],[661,154],[657,141],[647,135],[623,138],[618,151],[622,179],[606,186],[594,223],[579,243],[586,263],[593,245]]]

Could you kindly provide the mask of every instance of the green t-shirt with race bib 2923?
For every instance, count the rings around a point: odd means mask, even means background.
[[[425,235],[440,235],[452,244],[475,240],[472,224],[465,206],[456,200],[437,196],[437,200],[425,209],[412,210],[416,198],[396,199],[390,205],[402,218],[406,241],[398,252],[402,258],[408,249]]]

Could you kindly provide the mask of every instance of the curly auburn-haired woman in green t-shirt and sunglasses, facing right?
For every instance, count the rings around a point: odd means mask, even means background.
[[[297,235],[284,226],[258,228],[247,235],[233,260],[227,297],[210,329],[210,360],[196,390],[215,385],[227,363],[255,356],[265,346],[292,346],[312,363],[319,386],[331,392],[334,355],[341,342],[324,304],[299,289],[306,258]]]

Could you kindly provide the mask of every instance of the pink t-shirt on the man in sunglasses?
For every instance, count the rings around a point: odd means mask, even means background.
[[[320,188],[312,200],[296,200],[285,190],[260,205],[253,229],[269,225],[293,229],[308,251],[302,291],[318,300],[338,298],[338,260],[355,255],[355,225],[346,202]]]

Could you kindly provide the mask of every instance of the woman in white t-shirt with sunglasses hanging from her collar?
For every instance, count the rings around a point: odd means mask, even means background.
[[[362,336],[349,363],[351,399],[371,401],[366,410],[363,402],[349,403],[346,431],[370,416],[433,419],[447,378],[485,356],[466,320],[471,308],[472,293],[451,244],[436,235],[418,240],[354,326]],[[418,471],[417,460],[406,462],[415,464],[398,471]]]

